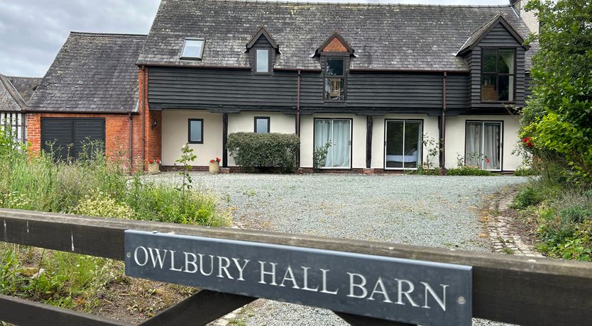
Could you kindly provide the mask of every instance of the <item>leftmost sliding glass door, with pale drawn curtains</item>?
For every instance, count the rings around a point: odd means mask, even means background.
[[[315,119],[314,149],[331,144],[322,167],[349,169],[351,167],[351,120]]]

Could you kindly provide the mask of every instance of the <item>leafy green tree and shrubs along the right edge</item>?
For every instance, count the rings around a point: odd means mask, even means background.
[[[540,49],[531,69],[535,97],[523,110],[520,136],[540,176],[513,207],[537,222],[538,249],[549,257],[590,261],[592,4],[531,1],[527,8],[541,22]]]

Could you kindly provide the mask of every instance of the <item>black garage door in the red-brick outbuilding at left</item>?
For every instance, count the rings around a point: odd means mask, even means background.
[[[104,150],[104,118],[41,118],[42,148],[57,160],[80,157],[83,145],[96,140]]]

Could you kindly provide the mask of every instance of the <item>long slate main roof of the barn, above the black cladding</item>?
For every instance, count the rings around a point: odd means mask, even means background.
[[[311,55],[339,30],[356,50],[351,69],[466,71],[456,53],[498,13],[522,38],[530,33],[509,5],[163,0],[138,64],[248,67],[246,44],[263,24],[279,45],[275,68],[319,69]],[[202,60],[179,59],[188,37],[205,38]]]

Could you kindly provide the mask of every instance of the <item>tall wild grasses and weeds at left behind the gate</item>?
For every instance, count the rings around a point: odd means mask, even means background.
[[[51,154],[30,154],[0,132],[0,207],[55,213],[225,225],[228,215],[216,198],[194,191],[187,180],[175,189],[130,176],[124,162],[107,158],[96,144],[83,157],[54,162]],[[193,157],[194,158],[194,157]],[[121,279],[122,264],[81,254],[0,244],[0,293],[65,308],[89,310],[106,284]]]

